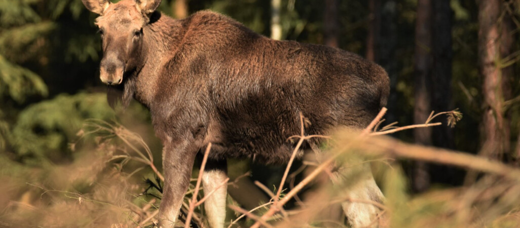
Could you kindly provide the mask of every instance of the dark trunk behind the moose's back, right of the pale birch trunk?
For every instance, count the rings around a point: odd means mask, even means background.
[[[325,0],[324,10],[324,44],[331,47],[339,47],[339,21],[337,20],[337,0]]]

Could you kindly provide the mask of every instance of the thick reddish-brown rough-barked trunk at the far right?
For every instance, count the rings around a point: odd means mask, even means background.
[[[478,59],[483,77],[484,113],[480,154],[501,160],[506,150],[504,97],[501,72],[496,61],[500,54],[499,26],[500,0],[478,0]]]

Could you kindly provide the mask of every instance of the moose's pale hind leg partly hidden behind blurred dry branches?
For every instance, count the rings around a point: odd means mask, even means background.
[[[348,183],[352,180],[353,183]],[[335,185],[346,186],[342,203],[343,211],[352,227],[373,227],[374,220],[381,213],[376,204],[384,202],[384,196],[372,177],[369,164],[358,165],[358,168],[341,167],[334,173],[332,181]]]

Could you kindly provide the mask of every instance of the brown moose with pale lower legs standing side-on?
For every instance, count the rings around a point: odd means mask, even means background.
[[[101,81],[123,87],[123,105],[134,98],[145,105],[163,143],[162,227],[175,224],[193,163],[209,143],[206,193],[227,178],[227,158],[287,163],[300,113],[310,123],[306,133],[326,135],[339,126],[366,127],[386,105],[386,72],[354,53],[275,41],[211,11],[175,20],[156,11],[161,0],[82,1],[99,15]],[[309,140],[302,150],[321,143]],[[369,176],[350,195],[381,202]],[[226,194],[220,187],[205,202],[214,228],[224,225]],[[362,203],[343,209],[353,226],[378,213]]]

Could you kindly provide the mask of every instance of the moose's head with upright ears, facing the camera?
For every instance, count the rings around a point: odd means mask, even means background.
[[[161,0],[82,0],[85,7],[98,14],[96,25],[102,40],[103,59],[100,78],[108,85],[123,82],[125,72],[142,64],[143,28]]]

